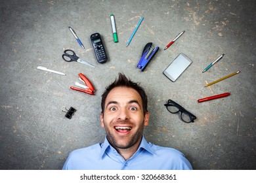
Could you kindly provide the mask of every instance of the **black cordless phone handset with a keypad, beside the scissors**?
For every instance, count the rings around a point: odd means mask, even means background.
[[[108,60],[108,56],[99,33],[94,33],[91,35],[91,43],[93,44],[93,50],[95,51],[95,56],[98,63],[106,62]]]

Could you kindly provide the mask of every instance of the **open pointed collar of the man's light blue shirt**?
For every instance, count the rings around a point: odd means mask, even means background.
[[[108,139],[106,137],[105,137],[104,143],[100,144],[100,146],[101,146],[100,158],[102,158],[102,156],[104,155],[104,153],[106,152],[106,150],[108,148],[113,148],[110,145],[110,143],[108,142]],[[140,148],[150,152],[151,154],[156,154],[156,151],[152,148],[152,144],[150,142],[147,142],[146,139],[144,138],[144,136],[142,136],[142,140],[140,142],[140,146],[139,146],[138,150],[140,150]],[[136,154],[136,152],[135,152],[135,154]]]

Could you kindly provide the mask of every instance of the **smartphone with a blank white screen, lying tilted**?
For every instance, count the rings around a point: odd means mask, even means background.
[[[172,82],[175,82],[179,76],[186,70],[186,68],[192,63],[185,54],[179,54],[177,58],[163,71],[163,75],[167,76]]]

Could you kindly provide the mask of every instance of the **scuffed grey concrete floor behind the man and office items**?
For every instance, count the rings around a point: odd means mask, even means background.
[[[72,150],[102,142],[100,98],[119,72],[148,93],[148,141],[177,148],[194,169],[256,169],[255,0],[3,0],[0,7],[0,169],[61,169]],[[116,19],[117,43],[110,14]],[[184,35],[163,50],[181,31]],[[89,39],[96,32],[108,52],[104,64],[96,62]],[[141,72],[137,63],[147,42],[160,51]],[[62,53],[68,48],[96,68],[65,62]],[[193,63],[171,82],[163,71],[180,53]],[[223,59],[202,73],[221,54]],[[66,76],[40,71],[39,65]],[[241,73],[204,87],[205,81],[237,70]],[[94,96],[70,90],[79,73],[95,86]],[[231,95],[198,103],[225,92]],[[185,124],[169,113],[163,105],[168,99],[195,114],[196,121]],[[77,109],[71,120],[63,106]]]

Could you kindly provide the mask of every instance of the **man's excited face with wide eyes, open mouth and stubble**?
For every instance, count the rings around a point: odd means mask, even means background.
[[[108,93],[104,114],[100,114],[102,127],[114,148],[139,146],[149,114],[143,114],[142,99],[133,88],[116,87]]]

